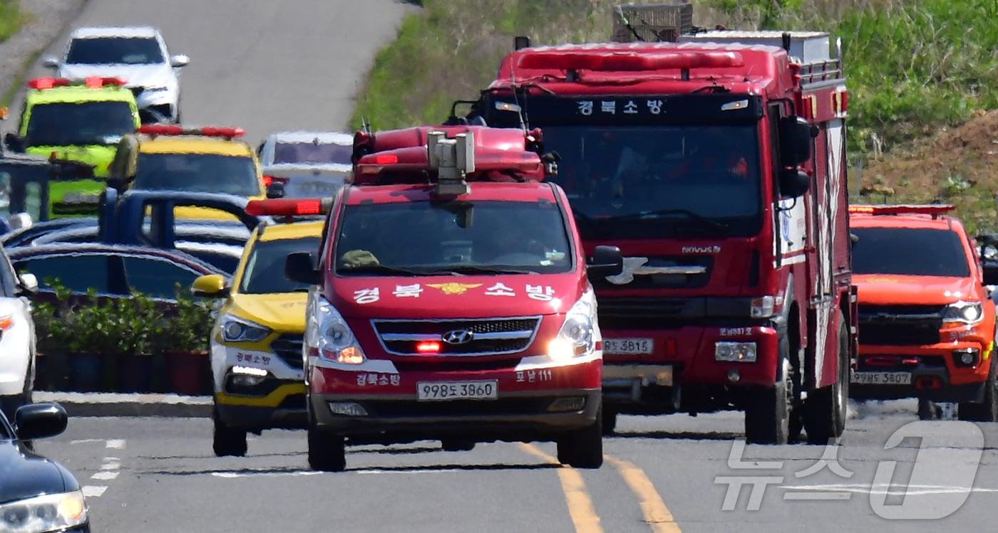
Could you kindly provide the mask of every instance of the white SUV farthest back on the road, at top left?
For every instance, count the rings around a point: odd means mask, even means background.
[[[69,36],[62,61],[44,65],[58,78],[118,77],[135,93],[144,124],[181,121],[180,69],[187,56],[171,56],[159,30],[151,27],[78,28]]]

